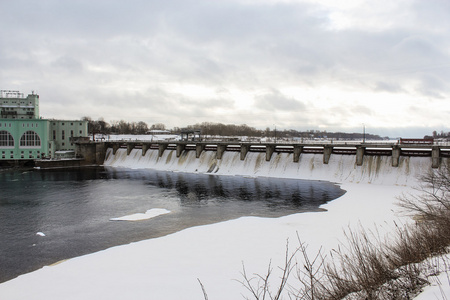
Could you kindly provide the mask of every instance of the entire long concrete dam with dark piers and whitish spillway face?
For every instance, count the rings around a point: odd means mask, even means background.
[[[108,141],[79,143],[86,162],[216,175],[405,185],[449,164],[450,146],[386,143]]]

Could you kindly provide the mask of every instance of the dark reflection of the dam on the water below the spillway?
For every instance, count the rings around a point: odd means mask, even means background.
[[[329,182],[280,178],[247,178],[160,171],[107,169],[111,179],[140,179],[148,185],[176,190],[180,205],[208,205],[211,202],[251,201],[277,210],[314,210],[343,191]],[[242,203],[241,203],[242,204]],[[273,210],[265,211],[269,215]],[[285,214],[285,213],[283,213]]]

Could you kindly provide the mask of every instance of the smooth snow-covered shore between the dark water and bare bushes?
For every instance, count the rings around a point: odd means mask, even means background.
[[[345,183],[347,193],[319,213],[266,219],[243,217],[189,228],[161,238],[113,247],[45,267],[0,285],[2,299],[242,299],[242,263],[248,273],[263,274],[270,261],[281,265],[286,241],[297,233],[308,251],[323,253],[344,240],[348,228],[374,228],[380,234],[393,221],[407,221],[395,203],[408,186]],[[164,217],[164,216],[160,216]],[[375,225],[376,224],[376,225]],[[274,276],[276,278],[276,276]]]

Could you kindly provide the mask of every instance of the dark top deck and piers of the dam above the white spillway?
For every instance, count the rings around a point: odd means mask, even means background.
[[[89,144],[85,142],[80,144]],[[107,141],[103,151],[126,148],[129,155],[133,149],[141,149],[144,156],[149,149],[158,150],[161,157],[166,150],[175,150],[177,157],[183,151],[195,151],[199,158],[203,151],[215,151],[217,159],[222,159],[224,152],[239,152],[244,160],[249,152],[265,153],[266,161],[270,161],[274,153],[291,153],[293,162],[299,162],[302,153],[322,154],[323,163],[328,164],[331,155],[354,155],[356,165],[361,166],[365,156],[391,156],[392,166],[398,167],[401,156],[430,157],[433,168],[438,168],[441,158],[450,157],[449,145],[423,145],[399,143],[254,143],[254,142],[187,142],[187,141]]]

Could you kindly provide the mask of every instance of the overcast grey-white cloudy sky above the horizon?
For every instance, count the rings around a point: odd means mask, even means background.
[[[44,118],[450,131],[448,0],[0,0],[0,89]]]

